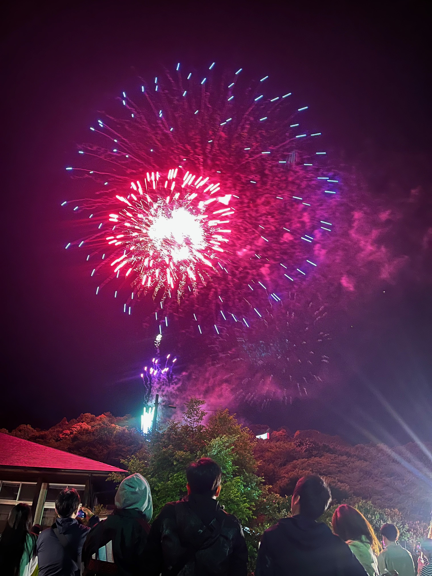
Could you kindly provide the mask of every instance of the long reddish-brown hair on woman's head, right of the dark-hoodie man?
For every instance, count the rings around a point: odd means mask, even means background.
[[[362,536],[366,536],[374,554],[379,554],[381,551],[381,545],[375,536],[372,526],[363,514],[353,508],[353,506],[341,504],[336,508],[332,517],[332,528],[333,532],[344,542],[361,540]]]

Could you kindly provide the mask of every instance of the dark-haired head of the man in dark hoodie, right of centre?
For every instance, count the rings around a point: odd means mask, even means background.
[[[316,520],[327,510],[331,498],[330,488],[320,476],[316,474],[302,476],[295,484],[291,498],[291,513],[293,516],[302,514],[310,520]]]

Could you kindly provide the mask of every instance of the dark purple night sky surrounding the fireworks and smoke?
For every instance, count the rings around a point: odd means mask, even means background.
[[[327,150],[362,172],[371,199],[391,203],[418,187],[431,194],[426,3],[299,6],[18,2],[3,13],[0,427],[47,427],[81,412],[138,414],[136,376],[154,335],[139,314],[126,317],[94,297],[81,255],[65,252],[71,222],[60,208],[73,194],[65,166],[77,143],[137,75],[214,60],[271,75],[307,100]],[[409,237],[418,223],[407,226]],[[245,409],[241,418],[353,441],[371,439],[365,430],[390,444],[408,441],[385,399],[432,441],[430,264],[429,252],[424,274],[377,283],[367,298],[358,295],[361,305],[335,314],[319,393],[287,408]]]

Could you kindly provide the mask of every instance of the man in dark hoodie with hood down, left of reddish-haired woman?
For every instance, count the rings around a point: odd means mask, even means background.
[[[331,501],[320,476],[303,476],[291,498],[291,518],[282,518],[261,539],[255,576],[367,576],[353,552],[323,522]]]

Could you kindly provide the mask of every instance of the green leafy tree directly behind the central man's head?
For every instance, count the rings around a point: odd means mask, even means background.
[[[147,478],[156,516],[166,502],[185,495],[187,465],[203,456],[213,458],[222,469],[219,501],[227,512],[247,522],[253,518],[262,491],[262,479],[255,473],[255,439],[228,410],[217,412],[204,426],[202,405],[202,400],[192,398],[185,405],[183,424],[169,422],[122,464],[129,473],[139,472]],[[110,479],[120,482],[122,475],[112,474]]]

